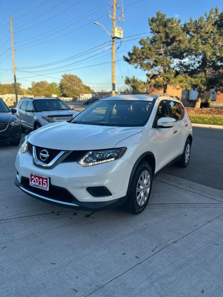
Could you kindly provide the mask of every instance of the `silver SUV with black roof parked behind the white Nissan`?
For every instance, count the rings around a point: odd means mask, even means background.
[[[63,122],[72,119],[73,111],[67,103],[59,98],[22,98],[16,106],[17,116],[25,129],[37,130],[49,123]]]

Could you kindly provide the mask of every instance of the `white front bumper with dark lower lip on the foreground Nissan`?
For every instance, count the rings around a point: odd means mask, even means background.
[[[15,167],[18,171],[15,185],[28,195],[64,207],[99,211],[125,203],[133,165],[128,161],[118,159],[89,167],[82,167],[76,162],[67,162],[60,163],[53,169],[45,169],[34,165],[33,157],[29,153],[21,155],[18,152]],[[33,187],[29,187],[27,180],[29,180],[30,172],[48,176],[50,186],[57,187],[59,190],[54,190],[53,195],[51,193],[48,197],[44,190],[37,193]],[[110,196],[95,197],[87,191],[88,187],[102,186],[110,191]],[[62,199],[63,193],[60,189],[67,191],[72,199]]]

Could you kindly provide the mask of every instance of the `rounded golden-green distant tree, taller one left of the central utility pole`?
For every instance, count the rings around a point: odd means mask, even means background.
[[[90,87],[84,85],[77,75],[64,74],[60,80],[60,89],[65,97],[77,97],[81,93],[91,93]]]

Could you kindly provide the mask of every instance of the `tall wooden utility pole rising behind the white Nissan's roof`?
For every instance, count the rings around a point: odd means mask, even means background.
[[[113,0],[112,8],[112,96],[115,96],[115,34],[113,32],[116,27],[116,0]]]

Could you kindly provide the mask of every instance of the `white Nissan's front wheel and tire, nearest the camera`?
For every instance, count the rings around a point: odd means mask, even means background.
[[[146,179],[148,183],[143,183],[143,179]],[[142,176],[144,178],[142,178]],[[144,186],[145,185],[145,186]],[[139,192],[139,186],[143,187],[141,195]],[[145,188],[146,187],[146,188]],[[139,164],[133,177],[132,184],[130,186],[129,197],[126,203],[123,205],[123,209],[129,213],[138,214],[141,213],[145,208],[150,198],[152,189],[152,170],[148,162],[143,161]],[[137,196],[138,195],[138,196]],[[137,199],[138,197],[138,199]]]

